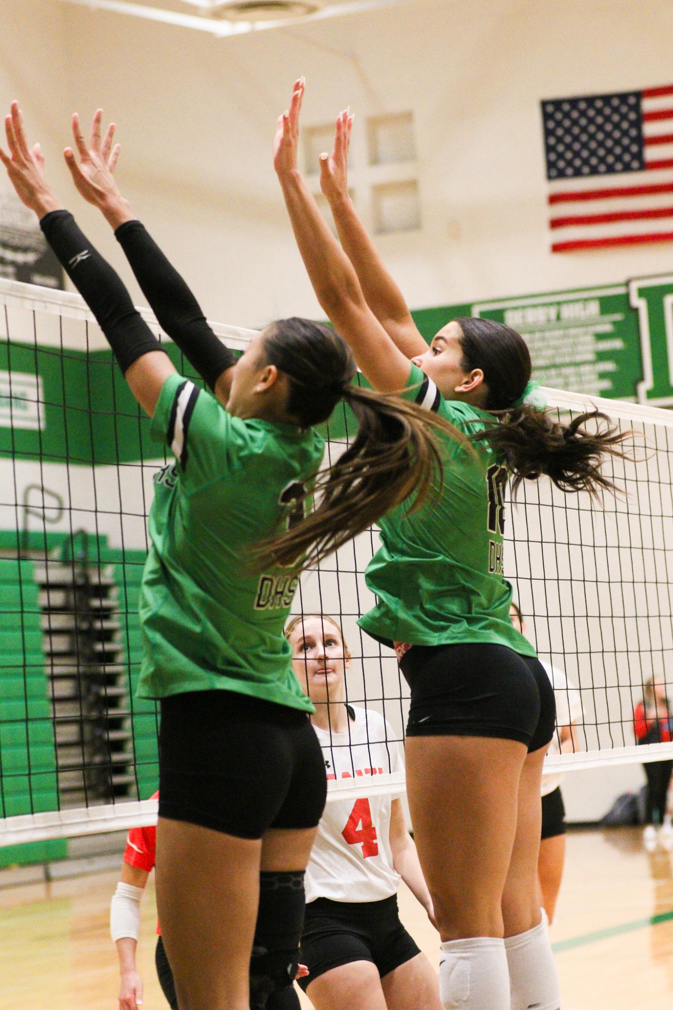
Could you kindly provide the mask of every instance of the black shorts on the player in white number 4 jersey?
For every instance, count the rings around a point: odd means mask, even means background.
[[[398,912],[398,896],[382,901],[345,902],[317,898],[306,906],[299,960],[310,974],[298,979],[306,992],[332,968],[368,961],[379,977],[420,953]]]

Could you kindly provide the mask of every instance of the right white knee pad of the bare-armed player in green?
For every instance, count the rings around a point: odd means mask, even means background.
[[[512,1010],[558,1010],[561,1006],[559,977],[545,919],[525,933],[508,936],[504,949],[510,968]]]

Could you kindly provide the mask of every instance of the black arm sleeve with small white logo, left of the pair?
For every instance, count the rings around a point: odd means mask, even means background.
[[[67,210],[52,210],[39,222],[44,237],[96,316],[119,368],[126,370],[149,350],[162,350],[133,306],[121,278],[78,227]]]

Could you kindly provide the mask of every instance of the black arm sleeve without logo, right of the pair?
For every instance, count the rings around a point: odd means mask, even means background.
[[[201,306],[140,221],[125,221],[115,236],[161,329],[183,351],[211,389],[234,355],[215,335]]]

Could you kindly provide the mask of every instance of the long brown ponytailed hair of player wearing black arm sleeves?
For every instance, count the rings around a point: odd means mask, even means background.
[[[411,499],[416,511],[443,479],[443,453],[434,431],[469,444],[453,425],[397,395],[360,389],[344,341],[309,320],[275,324],[264,342],[268,360],[291,380],[291,409],[305,426],[345,400],[357,420],[350,445],[318,473],[306,498],[317,505],[305,519],[270,537],[255,551],[255,567],[299,570],[315,564]],[[434,431],[433,431],[434,429]]]

